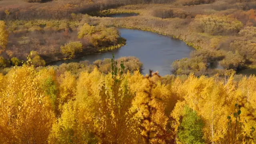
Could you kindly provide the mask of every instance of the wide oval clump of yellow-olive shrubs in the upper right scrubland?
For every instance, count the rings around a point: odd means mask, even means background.
[[[238,33],[243,27],[242,22],[228,16],[197,15],[190,28],[196,32],[205,32],[212,35]]]

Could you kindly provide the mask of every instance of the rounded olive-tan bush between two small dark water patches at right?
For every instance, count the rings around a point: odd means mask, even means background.
[[[228,52],[224,60],[220,61],[220,65],[225,69],[238,69],[244,66],[245,60],[237,53]]]

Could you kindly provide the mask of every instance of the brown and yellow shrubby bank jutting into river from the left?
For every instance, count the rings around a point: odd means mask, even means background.
[[[30,56],[32,62],[36,66],[44,66],[45,63],[107,52],[124,46],[126,40],[120,37],[116,28],[90,26],[81,22],[82,14],[73,16],[73,20],[3,22],[8,28],[9,39],[6,48],[0,50],[0,68],[21,65],[21,61],[26,61],[31,52],[36,53],[36,59]]]

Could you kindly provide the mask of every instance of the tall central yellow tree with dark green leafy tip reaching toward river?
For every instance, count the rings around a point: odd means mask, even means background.
[[[137,143],[138,133],[134,126],[133,116],[136,111],[130,111],[135,94],[130,92],[127,80],[123,76],[124,64],[116,66],[112,59],[112,73],[105,77],[100,86],[99,112],[95,116],[96,132],[102,143]]]

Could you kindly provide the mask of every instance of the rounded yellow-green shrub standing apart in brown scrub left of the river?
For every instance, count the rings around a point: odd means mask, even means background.
[[[69,42],[65,46],[61,46],[61,52],[66,58],[74,58],[76,52],[82,52],[82,43],[79,41]]]

